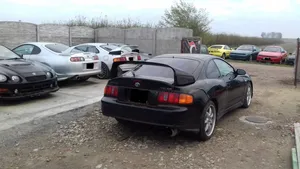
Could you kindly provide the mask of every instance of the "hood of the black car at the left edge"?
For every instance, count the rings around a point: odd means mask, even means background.
[[[38,62],[27,61],[25,59],[19,60],[1,60],[0,61],[0,72],[7,75],[19,75],[22,77],[36,75],[45,75],[46,71],[52,72],[52,70]]]

